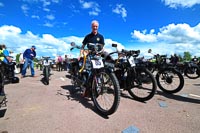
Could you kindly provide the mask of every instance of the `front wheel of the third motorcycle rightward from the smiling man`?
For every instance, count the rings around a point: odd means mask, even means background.
[[[182,74],[175,69],[163,69],[156,75],[158,87],[166,93],[177,93],[184,86]]]

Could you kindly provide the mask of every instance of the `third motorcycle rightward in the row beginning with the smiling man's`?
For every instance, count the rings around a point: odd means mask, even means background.
[[[149,49],[148,53],[152,53]],[[167,63],[166,55],[153,54],[156,59],[153,66],[156,72],[156,80],[158,87],[166,93],[177,93],[184,86],[183,75],[175,69],[172,64]],[[149,66],[147,66],[149,68]]]

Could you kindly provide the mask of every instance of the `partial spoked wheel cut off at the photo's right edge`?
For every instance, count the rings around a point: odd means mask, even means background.
[[[191,66],[185,70],[185,76],[190,79],[197,79],[200,77],[200,68],[198,66]]]

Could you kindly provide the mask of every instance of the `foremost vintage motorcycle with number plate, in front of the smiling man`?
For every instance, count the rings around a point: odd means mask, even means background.
[[[71,50],[80,49],[75,43],[71,45]],[[82,94],[91,97],[101,114],[111,115],[120,103],[120,87],[114,72],[104,67],[103,53],[101,44],[88,43],[82,57],[71,61],[71,81]]]

